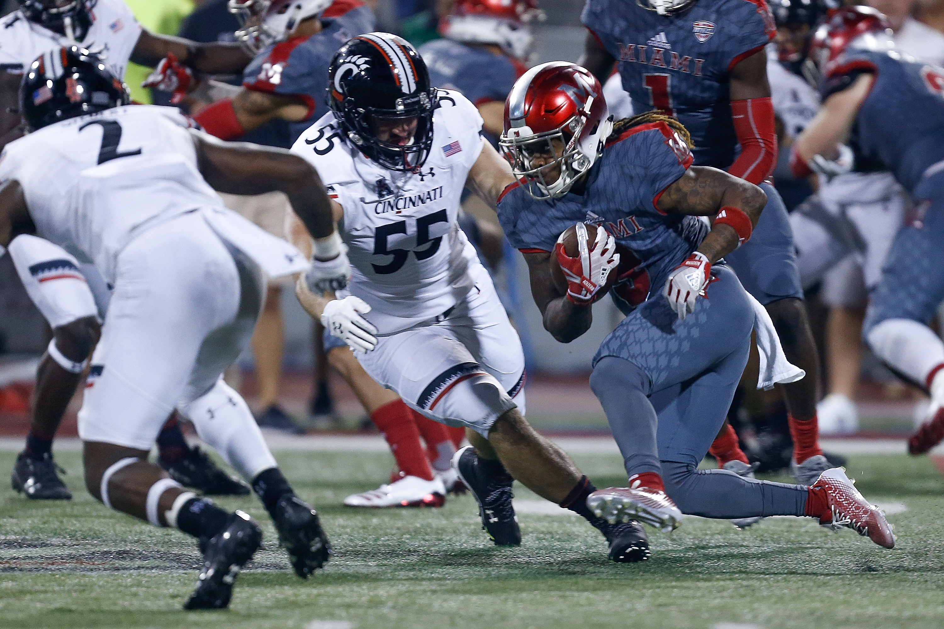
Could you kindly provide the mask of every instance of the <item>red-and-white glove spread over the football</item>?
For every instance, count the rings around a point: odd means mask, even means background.
[[[566,232],[565,232],[566,233]],[[603,237],[606,238],[603,238]],[[597,242],[593,249],[587,246],[587,230],[577,223],[579,257],[569,257],[564,250],[564,234],[554,245],[554,253],[567,280],[567,299],[578,306],[589,306],[597,300],[599,291],[606,286],[610,272],[619,266],[616,240],[597,227]]]

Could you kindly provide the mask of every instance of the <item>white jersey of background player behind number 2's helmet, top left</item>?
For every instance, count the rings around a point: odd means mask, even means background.
[[[92,26],[78,44],[101,58],[111,74],[123,78],[141,30],[124,0],[98,0],[92,10]],[[0,20],[0,70],[21,72],[44,53],[73,43],[29,22],[21,11],[13,11]]]

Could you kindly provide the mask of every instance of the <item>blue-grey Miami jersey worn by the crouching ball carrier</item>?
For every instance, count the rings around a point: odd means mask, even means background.
[[[538,201],[515,184],[502,193],[498,220],[505,238],[524,253],[553,251],[575,223],[602,225],[640,260],[649,286],[661,290],[708,233],[698,218],[664,214],[655,205],[691,164],[688,146],[667,124],[640,124],[607,144],[585,175],[583,194]]]

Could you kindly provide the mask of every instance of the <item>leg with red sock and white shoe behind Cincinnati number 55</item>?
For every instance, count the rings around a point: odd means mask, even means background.
[[[446,488],[430,469],[413,410],[391,389],[384,389],[363,371],[347,343],[325,335],[329,364],[354,391],[378,427],[396,460],[397,478],[390,484],[345,498],[347,506],[442,506]]]

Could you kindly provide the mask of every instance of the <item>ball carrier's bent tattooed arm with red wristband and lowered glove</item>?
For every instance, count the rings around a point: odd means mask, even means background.
[[[716,168],[692,166],[659,197],[656,208],[666,214],[714,217],[722,207],[737,207],[757,226],[767,194],[752,183]],[[730,224],[717,223],[701,241],[698,252],[714,264],[737,248],[738,235]]]

